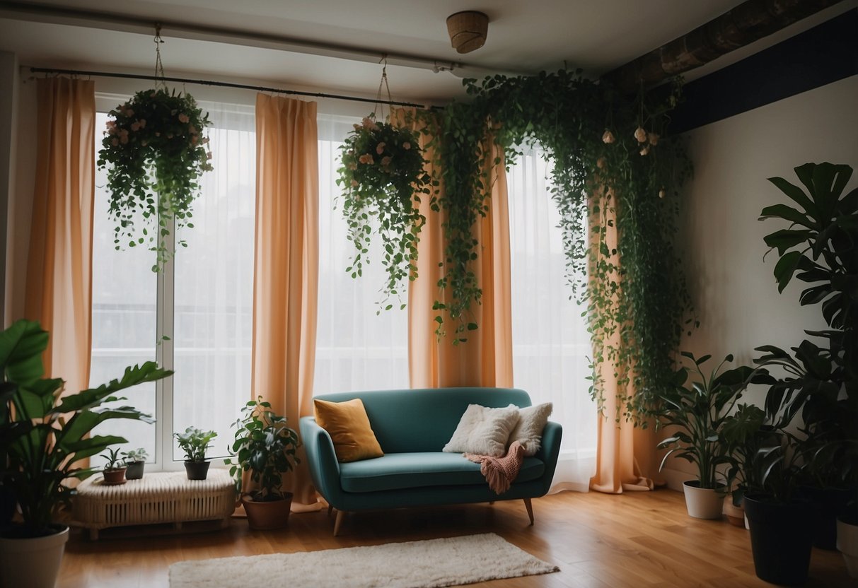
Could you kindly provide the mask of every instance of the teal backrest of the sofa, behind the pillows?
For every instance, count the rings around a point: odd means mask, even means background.
[[[384,453],[441,451],[468,405],[531,405],[528,393],[518,388],[414,388],[318,394],[316,398],[330,402],[360,398]]]

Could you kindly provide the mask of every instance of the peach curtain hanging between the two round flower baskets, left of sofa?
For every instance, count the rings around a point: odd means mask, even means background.
[[[318,288],[316,103],[257,94],[251,393],[298,429],[312,414]],[[316,505],[303,450],[286,477],[293,510]],[[304,508],[306,509],[306,507]]]

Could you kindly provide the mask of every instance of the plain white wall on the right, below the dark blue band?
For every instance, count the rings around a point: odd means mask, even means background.
[[[711,368],[728,353],[751,363],[754,347],[798,345],[805,329],[825,327],[819,305],[801,307],[803,283],[777,293],[775,255],[763,261],[763,237],[786,228],[758,221],[763,207],[787,201],[767,177],[799,183],[793,168],[807,162],[849,164],[858,185],[858,75],[801,93],[688,133],[694,177],[685,189],[680,249],[700,328],[681,349],[711,354]],[[775,252],[776,253],[776,252]],[[761,402],[763,390],[746,399]],[[665,468],[672,488],[693,471],[684,460]]]

